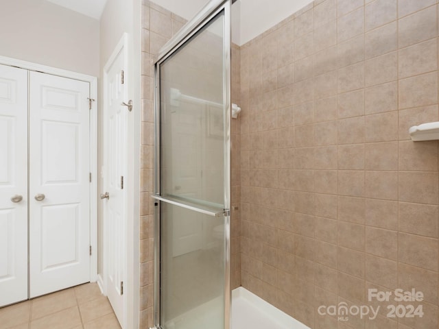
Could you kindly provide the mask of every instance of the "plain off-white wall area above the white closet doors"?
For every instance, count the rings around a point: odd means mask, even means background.
[[[99,21],[45,0],[1,0],[0,55],[99,75]]]

